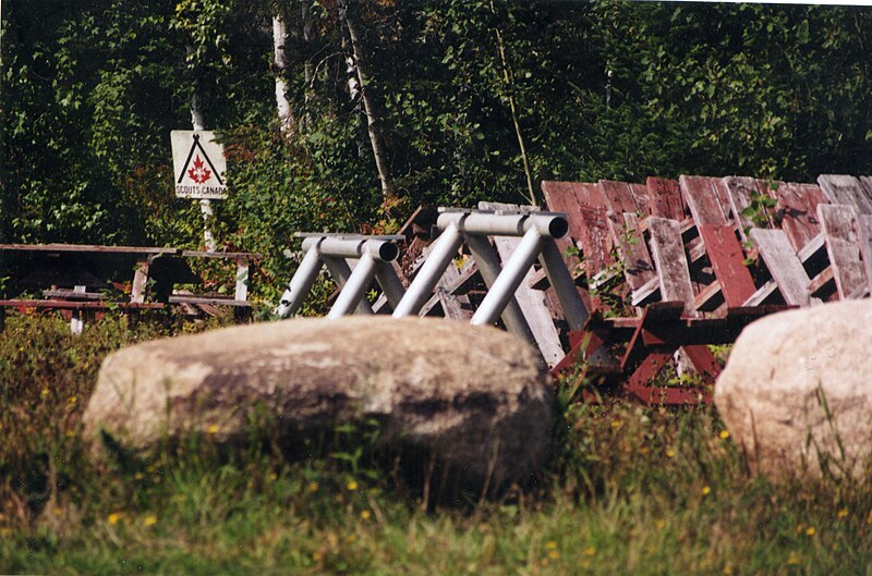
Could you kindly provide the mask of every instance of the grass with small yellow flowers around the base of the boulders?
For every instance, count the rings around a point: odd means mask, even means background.
[[[752,477],[711,407],[565,402],[536,486],[455,507],[425,510],[389,469],[349,457],[339,433],[294,462],[255,430],[230,456],[205,437],[92,464],[78,420],[101,358],[190,329],[168,318],[132,330],[119,317],[74,339],[51,316],[10,318],[0,573],[872,572],[870,487]]]

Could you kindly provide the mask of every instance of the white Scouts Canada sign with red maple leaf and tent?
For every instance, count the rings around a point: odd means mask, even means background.
[[[225,147],[215,142],[215,133],[173,130],[170,142],[175,196],[227,198]]]

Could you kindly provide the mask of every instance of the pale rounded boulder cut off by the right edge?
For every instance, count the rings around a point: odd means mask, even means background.
[[[776,314],[742,331],[715,404],[752,468],[861,477],[872,453],[871,347],[868,299]]]

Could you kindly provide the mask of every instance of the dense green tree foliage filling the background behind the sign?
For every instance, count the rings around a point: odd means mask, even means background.
[[[289,26],[287,135],[277,13]],[[391,205],[349,93],[335,3],[14,3],[0,233],[198,247],[197,208],[171,195],[168,144],[191,126],[195,94],[229,147],[233,196],[216,203],[216,233],[266,256],[255,297],[267,301],[295,266],[293,232],[392,231],[419,203],[524,201],[518,133],[535,185],[682,172],[813,181],[872,161],[868,10],[372,0],[353,15]]]

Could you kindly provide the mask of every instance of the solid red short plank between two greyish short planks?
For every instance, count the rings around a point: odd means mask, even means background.
[[[699,230],[715,277],[720,282],[724,301],[729,307],[741,306],[756,292],[756,286],[748,267],[742,264],[744,255],[732,226],[701,224]]]

